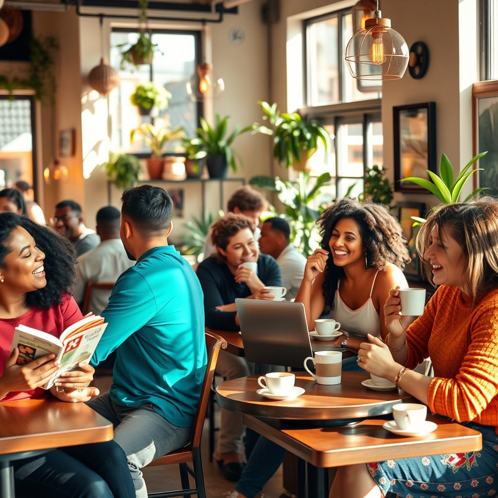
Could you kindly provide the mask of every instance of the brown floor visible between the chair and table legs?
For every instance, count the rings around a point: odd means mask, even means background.
[[[95,379],[93,385],[104,393],[109,390],[111,385],[110,376],[99,376]],[[216,410],[218,418],[218,410]],[[219,420],[217,420],[219,424]],[[204,425],[202,439],[202,466],[204,469],[204,483],[206,487],[207,498],[222,498],[224,493],[233,490],[234,484],[226,481],[218,468],[216,462],[209,463],[208,456],[208,429],[207,423]],[[147,491],[154,493],[158,491],[175,490],[180,487],[180,474],[177,465],[165,467],[150,467],[143,469]],[[266,484],[263,494],[264,498],[280,498],[284,493],[282,487],[282,468]]]

